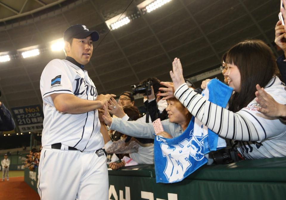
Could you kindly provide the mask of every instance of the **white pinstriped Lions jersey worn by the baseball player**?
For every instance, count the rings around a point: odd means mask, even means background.
[[[44,112],[43,147],[62,143],[81,151],[94,151],[104,146],[97,110],[83,114],[61,113],[56,110],[50,96],[67,93],[81,99],[96,100],[97,90],[86,70],[67,60],[54,59],[43,70],[40,89]]]

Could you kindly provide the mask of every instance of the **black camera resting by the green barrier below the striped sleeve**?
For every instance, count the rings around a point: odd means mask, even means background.
[[[214,152],[214,162],[216,164],[229,164],[239,161],[237,155],[237,148],[225,148],[220,151]]]

